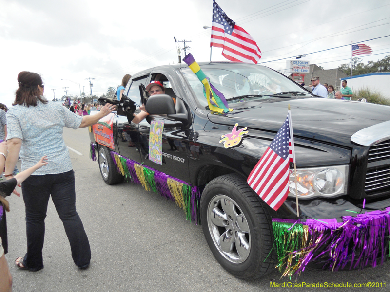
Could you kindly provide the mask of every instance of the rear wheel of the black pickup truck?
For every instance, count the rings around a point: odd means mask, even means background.
[[[98,147],[98,163],[101,177],[107,184],[116,184],[123,182],[124,176],[117,173],[117,167],[111,158],[111,150],[105,146]]]

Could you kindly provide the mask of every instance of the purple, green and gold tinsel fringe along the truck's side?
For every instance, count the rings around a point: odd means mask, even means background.
[[[145,190],[152,190],[162,197],[176,202],[176,205],[183,208],[188,221],[195,222],[196,225],[200,224],[200,191],[198,187],[191,186],[156,169],[138,164],[116,152],[111,151],[111,156],[117,172],[122,174],[126,180],[141,184]]]

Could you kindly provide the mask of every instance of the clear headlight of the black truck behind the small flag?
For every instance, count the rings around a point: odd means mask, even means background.
[[[290,169],[289,196],[298,198],[335,197],[344,195],[348,185],[348,165]]]

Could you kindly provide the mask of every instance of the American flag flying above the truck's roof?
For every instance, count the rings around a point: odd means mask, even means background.
[[[223,48],[222,55],[231,61],[257,64],[261,58],[261,51],[253,37],[228,18],[215,0],[210,47]]]

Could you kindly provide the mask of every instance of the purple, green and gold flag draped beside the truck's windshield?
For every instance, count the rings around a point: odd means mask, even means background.
[[[183,61],[188,65],[191,71],[195,73],[200,82],[202,82],[204,94],[210,110],[217,111],[219,113],[232,111],[233,109],[229,109],[225,96],[211,84],[210,78],[203,73],[202,69],[200,69],[193,55],[191,53],[186,55]]]

